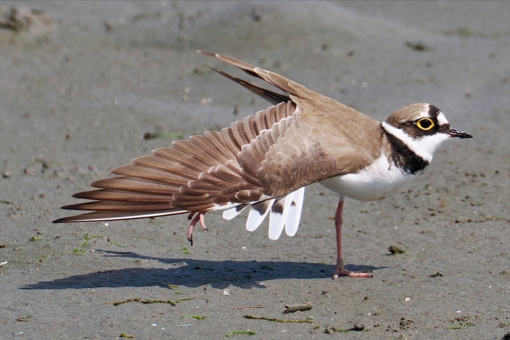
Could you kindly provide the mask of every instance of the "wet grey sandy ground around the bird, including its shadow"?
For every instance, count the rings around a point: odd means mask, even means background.
[[[510,2],[0,5],[0,338],[510,331]],[[371,279],[331,280],[337,197],[319,185],[307,189],[297,236],[278,241],[267,222],[244,230],[246,213],[208,214],[211,231],[198,230],[193,247],[185,216],[51,224],[72,193],[174,140],[145,133],[186,138],[268,107],[203,65],[242,72],[196,49],[277,71],[379,120],[430,102],[474,138],[444,145],[398,192],[346,202],[346,263]],[[390,255],[392,245],[405,253]],[[134,298],[185,300],[105,304]],[[310,301],[312,310],[282,313]],[[365,331],[336,332],[354,325]]]

